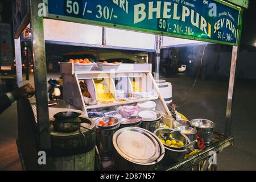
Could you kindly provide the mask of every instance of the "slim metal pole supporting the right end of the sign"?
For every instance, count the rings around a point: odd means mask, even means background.
[[[229,77],[228,102],[226,104],[225,137],[229,137],[231,133],[232,105],[233,105],[234,83],[235,83],[235,77],[236,77],[236,64],[237,64],[238,52],[239,52],[238,46],[233,46],[230,77]]]

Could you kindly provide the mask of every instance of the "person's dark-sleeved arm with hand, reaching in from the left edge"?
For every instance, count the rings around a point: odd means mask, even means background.
[[[13,92],[7,92],[5,94],[0,95],[0,114],[5,111],[8,107],[11,106],[16,100],[19,100],[22,97],[32,97],[34,96],[34,88],[30,85],[24,85]]]

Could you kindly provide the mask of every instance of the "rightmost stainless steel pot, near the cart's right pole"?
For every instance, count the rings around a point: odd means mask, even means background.
[[[214,122],[208,119],[192,119],[191,125],[198,131],[200,137],[204,139],[205,146],[212,144]]]

